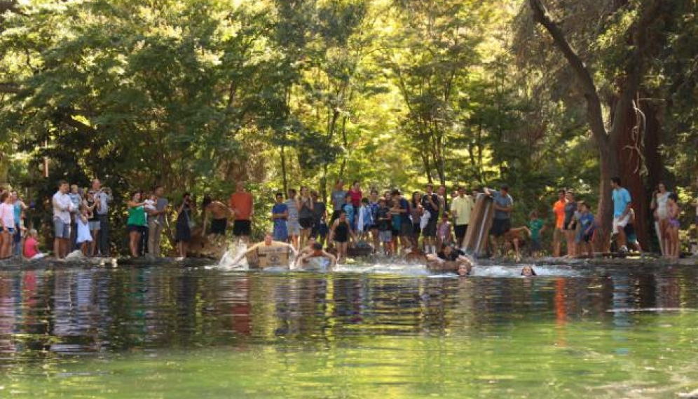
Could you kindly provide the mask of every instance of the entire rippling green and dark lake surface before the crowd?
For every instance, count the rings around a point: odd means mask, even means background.
[[[0,398],[677,398],[698,270],[0,271]]]

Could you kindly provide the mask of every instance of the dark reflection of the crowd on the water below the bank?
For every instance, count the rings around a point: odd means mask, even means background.
[[[0,272],[0,366],[51,356],[348,337],[488,337],[521,323],[608,324],[609,309],[697,308],[698,271],[611,269],[543,278],[234,273],[174,267]]]

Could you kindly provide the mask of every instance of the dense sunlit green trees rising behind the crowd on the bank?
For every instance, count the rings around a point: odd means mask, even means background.
[[[338,177],[381,191],[506,182],[515,224],[568,187],[608,226],[620,175],[646,247],[660,180],[693,215],[696,8],[0,0],[0,182],[40,203],[60,178],[175,198],[227,198],[245,180],[264,214],[273,191],[325,195]]]

